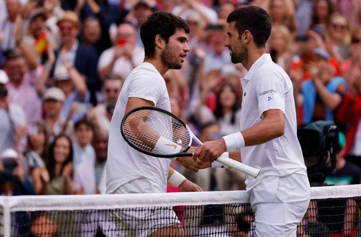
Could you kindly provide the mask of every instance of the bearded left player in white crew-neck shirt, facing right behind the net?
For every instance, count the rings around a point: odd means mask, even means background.
[[[155,158],[136,151],[123,139],[120,127],[124,115],[139,106],[156,106],[170,111],[170,101],[162,77],[168,69],[181,69],[189,48],[189,26],[170,13],[151,14],[140,27],[144,62],[125,80],[110,123],[106,193],[166,193],[167,181],[181,191],[201,188],[170,167],[170,159]],[[193,151],[195,148],[192,149]],[[186,168],[201,168],[192,157],[177,160]],[[163,218],[162,218],[163,216]],[[119,211],[113,215],[120,236],[183,236],[173,210]],[[143,228],[143,229],[142,229]]]

